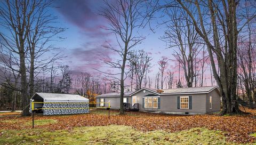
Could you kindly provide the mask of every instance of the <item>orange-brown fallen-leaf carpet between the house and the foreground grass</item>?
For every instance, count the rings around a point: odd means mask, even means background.
[[[149,132],[164,130],[165,132],[180,132],[191,128],[207,128],[209,130],[222,131],[226,141],[235,143],[253,143],[256,132],[256,111],[250,111],[252,115],[246,116],[218,116],[218,115],[160,115],[146,112],[127,112],[127,115],[118,115],[112,110],[110,119],[107,111],[92,111],[90,114],[65,115],[65,116],[42,116],[36,115],[36,120],[54,120],[47,125],[35,123],[35,128],[44,130],[68,130],[82,126],[106,126],[106,125],[125,125],[131,126],[139,131]],[[1,114],[0,114],[1,115]],[[18,116],[0,117],[1,130],[20,130],[29,129],[31,117]],[[6,121],[7,120],[7,121]],[[11,121],[12,120],[12,121]]]

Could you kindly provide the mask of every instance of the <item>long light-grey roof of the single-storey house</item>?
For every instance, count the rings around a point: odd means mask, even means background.
[[[171,88],[171,89],[164,89],[162,90],[162,93],[159,93],[159,91],[157,91],[157,89],[155,88],[146,88],[143,87],[138,91],[135,92],[125,92],[124,96],[131,96],[135,93],[140,92],[141,90],[147,90],[150,92],[153,92],[157,95],[167,95],[167,94],[203,94],[203,93],[209,93],[212,90],[214,90],[215,88],[218,88],[217,86],[203,86],[203,87],[186,87],[186,88]],[[108,94],[101,94],[98,95],[97,97],[110,97],[110,96],[120,96],[119,92],[115,92],[115,93],[108,93]]]

